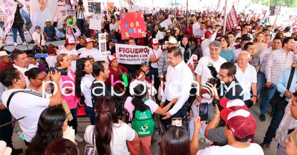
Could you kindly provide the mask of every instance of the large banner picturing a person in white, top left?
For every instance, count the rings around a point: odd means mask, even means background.
[[[63,24],[67,17],[68,2],[69,0],[30,0],[30,18],[33,27],[40,26],[43,32],[46,20],[57,22],[57,25]],[[74,7],[69,8],[74,9]]]

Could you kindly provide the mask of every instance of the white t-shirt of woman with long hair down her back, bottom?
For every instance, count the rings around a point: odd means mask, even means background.
[[[89,125],[86,128],[85,140],[91,145],[93,143],[93,131],[94,125]],[[112,155],[130,155],[126,145],[126,141],[132,141],[135,138],[135,130],[133,130],[126,123],[113,123],[112,124],[112,139],[110,142],[111,154]],[[94,142],[95,138],[94,138]]]

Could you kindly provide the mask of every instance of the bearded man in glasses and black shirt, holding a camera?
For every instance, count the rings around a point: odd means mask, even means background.
[[[241,94],[243,88],[239,84],[235,77],[236,66],[232,62],[225,62],[221,65],[219,72],[219,79],[221,86],[219,88],[214,85],[215,99],[221,99],[223,97],[229,100],[244,99],[244,95]],[[234,93],[235,92],[235,93]]]

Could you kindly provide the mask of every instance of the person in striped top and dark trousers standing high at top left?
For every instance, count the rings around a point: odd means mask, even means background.
[[[78,6],[75,8],[76,12],[76,25],[81,32],[81,36],[84,36],[85,30],[85,7],[83,5],[83,0],[78,1]]]

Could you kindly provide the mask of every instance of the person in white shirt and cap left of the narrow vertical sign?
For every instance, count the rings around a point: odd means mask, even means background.
[[[93,48],[94,40],[87,38],[85,40],[86,47],[80,48],[77,53],[81,53],[79,55],[80,58],[86,58],[88,55],[92,55],[95,61],[100,60],[100,51],[97,48]]]

